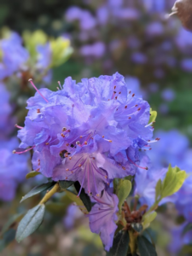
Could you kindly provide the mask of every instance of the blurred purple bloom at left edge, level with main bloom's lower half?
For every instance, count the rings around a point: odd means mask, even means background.
[[[0,200],[11,201],[15,197],[18,183],[22,182],[28,172],[27,159],[29,154],[15,155],[12,151],[18,147],[16,138],[0,141]]]

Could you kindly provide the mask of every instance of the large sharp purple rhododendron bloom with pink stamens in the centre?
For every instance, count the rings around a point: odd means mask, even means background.
[[[15,153],[33,148],[34,170],[55,181],[78,180],[87,193],[100,195],[114,177],[135,174],[138,151],[153,136],[148,102],[128,88],[115,73],[79,84],[67,78],[55,92],[38,90],[27,102]]]

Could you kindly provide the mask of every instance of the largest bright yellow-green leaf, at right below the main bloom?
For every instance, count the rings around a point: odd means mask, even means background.
[[[180,171],[177,166],[172,168],[170,165],[162,182],[162,198],[176,193],[182,187],[186,177],[186,172]]]

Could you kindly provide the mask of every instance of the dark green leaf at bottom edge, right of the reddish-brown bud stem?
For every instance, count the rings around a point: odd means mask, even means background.
[[[157,256],[155,247],[144,236],[138,236],[138,250],[141,256]]]

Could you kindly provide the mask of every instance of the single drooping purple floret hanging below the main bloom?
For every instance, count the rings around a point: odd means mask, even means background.
[[[117,229],[115,221],[118,220],[116,213],[119,211],[119,199],[117,195],[103,191],[102,197],[95,197],[96,204],[92,207],[90,218],[90,230],[100,234],[105,249],[109,251],[113,245],[114,232]]]

